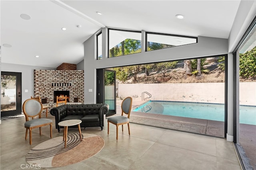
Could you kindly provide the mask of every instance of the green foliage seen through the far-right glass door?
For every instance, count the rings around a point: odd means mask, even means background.
[[[242,78],[256,77],[256,47],[244,54],[239,54],[239,75]]]

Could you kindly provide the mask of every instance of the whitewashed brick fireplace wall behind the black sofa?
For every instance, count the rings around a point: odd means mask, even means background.
[[[70,102],[84,103],[84,70],[34,70],[34,96],[54,103],[54,91],[69,90]]]

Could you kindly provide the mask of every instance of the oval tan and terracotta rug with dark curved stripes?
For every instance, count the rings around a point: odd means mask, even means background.
[[[104,147],[102,137],[82,133],[68,134],[66,148],[63,136],[40,143],[26,155],[28,164],[38,168],[67,166],[94,156]]]

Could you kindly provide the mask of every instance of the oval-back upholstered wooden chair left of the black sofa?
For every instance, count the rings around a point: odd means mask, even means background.
[[[41,127],[50,125],[50,137],[52,138],[52,120],[41,118],[42,108],[42,103],[35,98],[27,99],[22,105],[22,110],[26,118],[26,122],[24,123],[24,127],[26,128],[25,140],[27,140],[29,130],[30,145],[32,144],[32,129],[38,127],[41,135]],[[29,120],[29,118],[31,118],[31,120]]]

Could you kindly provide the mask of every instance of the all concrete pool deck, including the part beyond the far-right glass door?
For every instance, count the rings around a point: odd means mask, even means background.
[[[132,109],[147,101],[132,101]],[[122,100],[116,100],[116,115],[120,115]],[[115,115],[113,115],[115,116]],[[177,131],[209,135],[224,138],[224,122],[205,119],[194,119],[188,117],[177,117],[171,115],[159,115],[154,113],[142,113],[132,111],[130,122]],[[240,144],[251,160],[250,164],[256,170],[256,125],[240,124]]]

